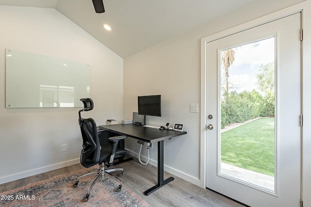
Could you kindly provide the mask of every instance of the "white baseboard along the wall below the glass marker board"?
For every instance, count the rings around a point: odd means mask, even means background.
[[[51,170],[56,170],[56,169],[67,167],[67,166],[77,164],[77,163],[80,163],[80,158],[68,160],[65,162],[60,162],[60,163],[53,164],[53,165],[48,165],[48,166],[41,167],[41,168],[36,168],[33,170],[17,173],[14,175],[8,175],[8,176],[0,177],[0,184],[11,182],[11,181],[18,180],[18,179],[25,178],[25,177],[29,177],[29,176],[33,176],[33,175],[38,175],[41,173],[49,172]]]

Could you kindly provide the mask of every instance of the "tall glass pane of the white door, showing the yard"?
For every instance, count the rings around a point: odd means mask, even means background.
[[[268,191],[275,190],[275,39],[219,54],[220,174]]]

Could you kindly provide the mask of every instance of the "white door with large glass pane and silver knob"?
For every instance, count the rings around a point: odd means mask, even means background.
[[[207,43],[207,188],[299,207],[300,13]]]

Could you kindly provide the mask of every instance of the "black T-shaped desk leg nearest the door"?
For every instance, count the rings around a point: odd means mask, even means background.
[[[149,195],[153,191],[161,188],[165,184],[171,182],[174,178],[169,177],[166,180],[164,180],[164,141],[160,141],[157,143],[157,185],[154,187],[148,189],[144,192],[145,195]]]

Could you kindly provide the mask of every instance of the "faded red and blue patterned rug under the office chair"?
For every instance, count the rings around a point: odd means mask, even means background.
[[[76,188],[76,178],[94,172],[98,166],[59,175],[47,180],[30,183],[27,186],[2,192],[1,207],[149,207],[135,192],[122,184],[120,192],[116,188],[120,182],[105,174],[104,180],[97,181],[87,202],[82,198],[95,178],[94,175],[80,179]],[[121,177],[122,178],[122,177]],[[121,179],[120,178],[120,179]],[[122,179],[121,179],[122,180]]]

